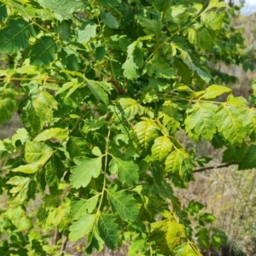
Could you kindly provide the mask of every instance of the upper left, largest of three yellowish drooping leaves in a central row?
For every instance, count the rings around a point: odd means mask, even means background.
[[[156,137],[159,137],[159,127],[150,119],[133,126],[133,143],[139,154],[148,152]]]

